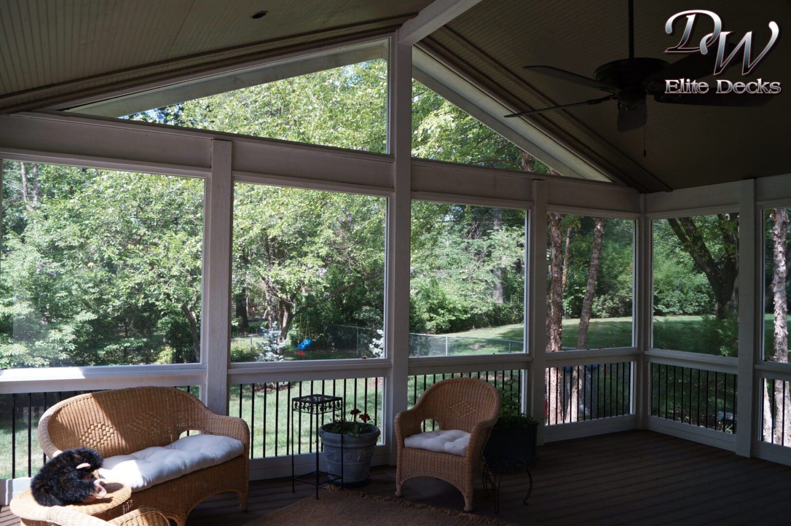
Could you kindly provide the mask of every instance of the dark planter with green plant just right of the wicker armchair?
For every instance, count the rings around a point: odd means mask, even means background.
[[[500,417],[494,424],[483,455],[490,458],[538,460],[539,421],[520,411],[519,402],[500,392]]]

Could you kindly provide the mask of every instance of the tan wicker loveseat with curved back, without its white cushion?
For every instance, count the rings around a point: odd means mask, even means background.
[[[39,422],[39,444],[49,458],[79,446],[104,458],[165,446],[187,430],[236,438],[244,454],[217,466],[134,492],[123,511],[149,507],[184,526],[200,501],[232,492],[247,509],[250,432],[241,418],[220,416],[175,388],[127,388],[74,396],[50,407]]]

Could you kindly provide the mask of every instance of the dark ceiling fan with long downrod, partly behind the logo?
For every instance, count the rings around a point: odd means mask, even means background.
[[[725,45],[725,56],[730,55],[736,46]],[[736,93],[709,93],[694,95],[671,95],[664,93],[664,79],[698,79],[713,74],[711,55],[693,53],[672,64],[662,59],[634,56],[634,2],[629,0],[629,58],[607,62],[596,68],[593,78],[584,77],[571,71],[553,66],[524,66],[547,77],[558,78],[578,85],[600,89],[607,93],[596,99],[582,100],[570,104],[560,104],[549,108],[539,108],[527,112],[517,112],[506,117],[521,117],[533,113],[549,112],[572,106],[600,104],[607,100],[618,101],[618,131],[630,131],[642,127],[648,120],[646,96],[664,104],[697,104],[706,106],[760,106],[771,100],[771,95],[739,95]]]

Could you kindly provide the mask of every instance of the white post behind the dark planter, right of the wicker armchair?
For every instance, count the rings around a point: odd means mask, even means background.
[[[528,350],[530,364],[530,408],[535,418],[544,418],[544,377],[547,361],[547,184],[533,181],[535,206],[528,217]],[[543,444],[544,426],[538,443]]]

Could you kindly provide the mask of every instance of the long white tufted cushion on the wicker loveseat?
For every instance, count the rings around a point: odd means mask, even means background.
[[[178,479],[192,471],[222,464],[244,453],[244,443],[218,435],[191,435],[165,447],[146,448],[131,455],[104,459],[102,479],[123,482],[131,490]]]

